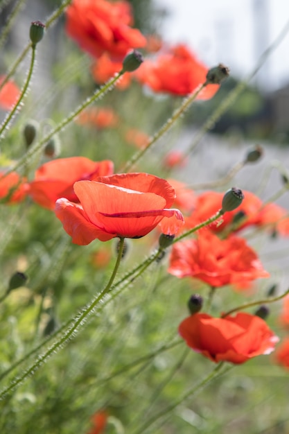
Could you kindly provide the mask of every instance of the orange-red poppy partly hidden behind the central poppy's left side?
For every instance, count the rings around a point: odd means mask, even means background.
[[[55,159],[37,169],[29,193],[38,205],[54,209],[59,198],[78,202],[73,191],[74,182],[94,180],[98,176],[111,175],[113,171],[114,164],[110,160],[93,162],[85,157]]]

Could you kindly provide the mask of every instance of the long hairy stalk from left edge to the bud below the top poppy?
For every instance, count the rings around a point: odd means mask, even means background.
[[[19,168],[23,168],[27,164],[27,162],[30,161],[31,158],[35,157],[35,154],[37,152],[39,152],[40,150],[42,150],[42,148],[44,147],[44,145],[55,134],[58,134],[65,127],[67,127],[67,125],[69,125],[69,123],[71,123],[72,121],[74,121],[74,119],[76,119],[77,116],[83,110],[85,110],[86,107],[88,107],[91,103],[93,103],[94,101],[96,101],[98,98],[101,98],[107,91],[111,90],[122,75],[123,75],[123,71],[120,71],[119,73],[116,74],[116,76],[114,76],[113,78],[111,78],[105,85],[101,86],[100,89],[97,89],[96,92],[94,92],[94,94],[92,94],[92,96],[90,96],[89,98],[87,98],[87,100],[85,100],[82,104],[80,104],[76,108],[76,110],[74,110],[73,112],[71,112],[71,114],[69,114],[69,116],[67,116],[67,118],[63,119],[62,122],[60,122],[58,125],[56,125],[55,128],[53,128],[53,130],[51,130],[51,132],[49,132],[49,134],[46,134],[46,136],[43,137],[42,140],[40,140],[38,143],[35,143],[32,146],[30,146],[30,148],[28,149],[28,152],[24,155],[24,157],[22,157],[21,159],[19,159],[19,162],[17,162],[15,164],[15,166],[13,166],[12,168],[10,168],[4,175],[2,175],[2,177],[6,177],[7,175],[9,175],[9,173],[11,173],[13,171],[17,171]],[[1,178],[0,178],[0,180],[1,180]]]

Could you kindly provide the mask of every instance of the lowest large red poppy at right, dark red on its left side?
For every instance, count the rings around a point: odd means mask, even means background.
[[[216,363],[239,364],[270,354],[279,340],[264,320],[244,312],[225,318],[195,313],[179,324],[179,334],[188,347]]]

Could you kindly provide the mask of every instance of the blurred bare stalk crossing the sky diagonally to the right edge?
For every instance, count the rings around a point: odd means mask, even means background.
[[[189,155],[193,152],[193,150],[198,146],[204,135],[213,128],[213,126],[216,124],[216,122],[220,119],[220,117],[227,112],[229,107],[236,101],[238,96],[243,92],[247,84],[256,76],[256,73],[259,72],[261,67],[263,67],[263,64],[266,62],[268,57],[274,52],[274,50],[277,49],[279,44],[283,41],[284,37],[286,37],[287,33],[289,31],[289,20],[287,21],[286,25],[282,28],[281,32],[277,36],[277,38],[272,42],[270,46],[268,46],[268,49],[266,49],[261,57],[259,58],[258,62],[256,63],[256,67],[249,73],[247,78],[245,80],[241,81],[234,87],[233,90],[227,95],[226,98],[222,100],[220,105],[216,108],[216,110],[209,116],[207,121],[204,122],[198,133],[195,135],[195,139],[193,139],[193,142],[191,146],[186,150],[184,153],[184,157],[186,155]]]

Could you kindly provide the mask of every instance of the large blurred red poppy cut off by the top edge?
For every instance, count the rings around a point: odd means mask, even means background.
[[[95,58],[107,52],[115,60],[123,60],[130,49],[146,45],[141,32],[130,27],[132,13],[127,1],[73,0],[66,14],[67,34]]]

